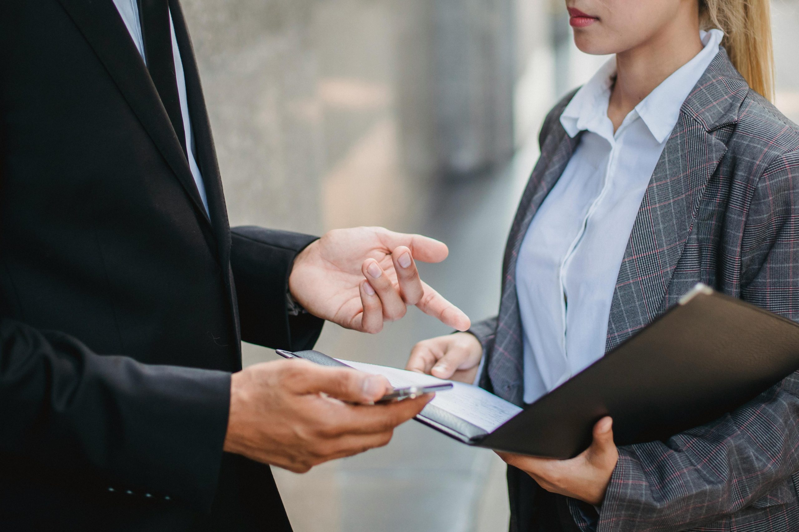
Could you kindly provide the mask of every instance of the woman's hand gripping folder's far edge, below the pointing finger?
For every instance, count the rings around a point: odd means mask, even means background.
[[[411,349],[406,369],[471,384],[483,357],[483,345],[471,333],[420,341]]]

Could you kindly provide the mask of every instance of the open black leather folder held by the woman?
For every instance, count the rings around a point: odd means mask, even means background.
[[[419,421],[463,443],[566,459],[603,416],[617,445],[668,439],[732,412],[799,368],[799,324],[698,285],[672,309],[492,432]]]

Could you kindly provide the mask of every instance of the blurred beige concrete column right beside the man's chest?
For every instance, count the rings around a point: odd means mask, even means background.
[[[230,222],[321,230],[317,0],[181,0]]]

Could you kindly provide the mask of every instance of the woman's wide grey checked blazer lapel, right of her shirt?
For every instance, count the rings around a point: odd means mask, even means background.
[[[702,195],[748,88],[721,49],[682,105],[635,219],[610,307],[606,351],[666,310]]]

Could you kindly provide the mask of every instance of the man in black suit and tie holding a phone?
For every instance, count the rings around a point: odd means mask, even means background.
[[[268,465],[388,442],[426,399],[279,361],[377,332],[446,246],[229,229],[177,0],[0,2],[0,530],[290,530]],[[321,393],[324,392],[324,393]]]

